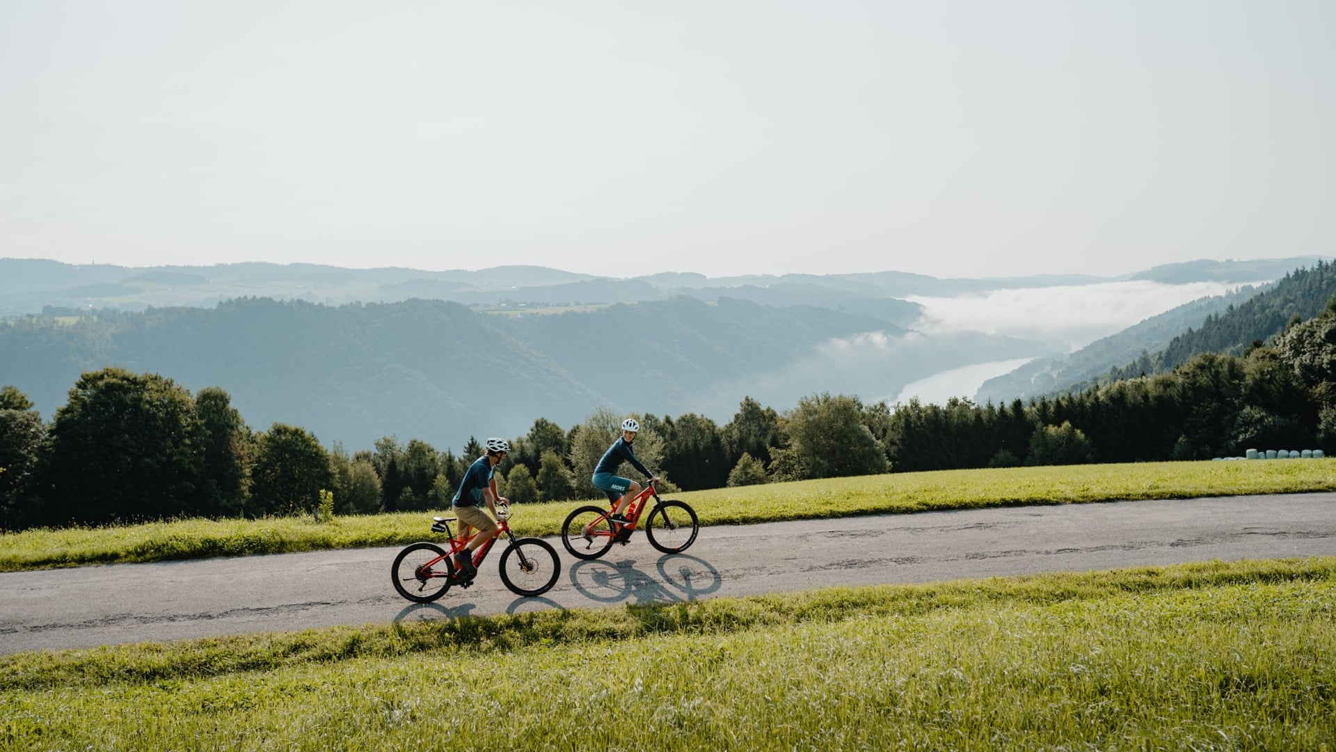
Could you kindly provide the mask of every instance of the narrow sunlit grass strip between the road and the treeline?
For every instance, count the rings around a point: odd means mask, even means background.
[[[701,525],[1336,490],[1336,459],[1079,464],[903,472],[664,494],[691,503]],[[520,535],[553,535],[581,502],[516,507]],[[448,514],[448,512],[438,512]],[[190,519],[96,529],[0,533],[0,571],[318,549],[395,546],[430,538],[432,512],[258,521]]]

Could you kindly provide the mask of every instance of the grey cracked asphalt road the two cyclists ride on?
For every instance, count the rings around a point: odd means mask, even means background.
[[[522,530],[522,516],[516,521]],[[424,518],[424,538],[426,518]],[[827,585],[935,582],[1210,559],[1336,555],[1336,494],[1224,496],[705,527],[685,554],[641,533],[568,555],[540,598],[497,577],[417,605],[390,585],[398,547],[0,574],[0,654],[542,609],[671,603]]]

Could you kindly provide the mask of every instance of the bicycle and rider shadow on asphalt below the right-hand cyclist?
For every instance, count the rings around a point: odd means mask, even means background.
[[[576,562],[570,585],[593,601],[615,603],[680,603],[719,590],[724,581],[719,570],[687,554],[665,554],[655,562],[657,578],[636,569],[636,559]]]

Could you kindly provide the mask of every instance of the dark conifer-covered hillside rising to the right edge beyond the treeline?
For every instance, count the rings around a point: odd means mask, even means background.
[[[1308,320],[1320,314],[1332,296],[1336,296],[1336,265],[1319,261],[1312,268],[1296,269],[1252,298],[1208,316],[1200,328],[1189,328],[1166,348],[1142,353],[1134,361],[1077,384],[1070,391],[1141,375],[1165,373],[1204,352],[1242,355],[1253,343],[1265,343],[1284,332],[1285,325],[1296,317]]]

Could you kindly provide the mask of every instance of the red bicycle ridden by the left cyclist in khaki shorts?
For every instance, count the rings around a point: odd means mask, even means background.
[[[510,510],[506,504],[497,506],[497,522],[501,531],[486,543],[478,546],[473,553],[473,566],[482,566],[482,559],[488,558],[492,546],[505,535],[509,546],[501,554],[501,582],[518,595],[541,595],[557,583],[561,575],[561,559],[557,550],[550,543],[540,538],[516,538],[510,530]],[[450,533],[453,516],[433,516],[432,533],[445,533],[450,550],[445,550],[436,543],[422,541],[410,543],[390,565],[390,577],[394,589],[409,601],[430,603],[458,585],[469,587],[473,578],[457,573],[454,569],[454,554],[462,551],[468,539],[457,539]]]

